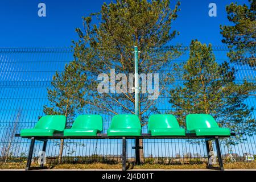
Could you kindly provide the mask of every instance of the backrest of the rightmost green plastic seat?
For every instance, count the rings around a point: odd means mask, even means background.
[[[215,119],[209,114],[189,114],[186,117],[187,130],[219,127]]]

